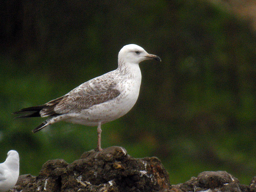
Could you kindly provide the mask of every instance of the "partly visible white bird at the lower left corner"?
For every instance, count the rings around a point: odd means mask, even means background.
[[[19,177],[19,154],[15,150],[7,153],[6,160],[0,164],[0,192],[10,190]]]

